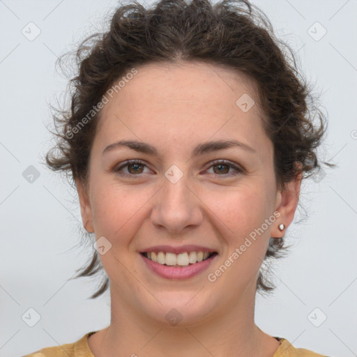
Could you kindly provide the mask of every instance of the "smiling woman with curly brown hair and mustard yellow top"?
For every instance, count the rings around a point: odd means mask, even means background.
[[[321,356],[254,321],[326,129],[268,19],[248,1],[135,3],[89,40],[47,164],[73,176],[96,236],[79,276],[102,264],[92,298],[110,284],[112,319],[26,357]]]

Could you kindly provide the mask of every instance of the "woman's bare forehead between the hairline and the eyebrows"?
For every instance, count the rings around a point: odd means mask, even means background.
[[[234,133],[253,146],[264,135],[257,91],[244,75],[197,62],[150,63],[136,70],[102,109],[100,142],[135,138],[154,145],[158,140],[188,144],[187,137],[232,139]],[[240,107],[241,98],[252,106],[248,111]]]

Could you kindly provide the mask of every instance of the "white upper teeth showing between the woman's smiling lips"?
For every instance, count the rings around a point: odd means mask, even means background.
[[[174,254],[170,252],[141,252],[141,255],[163,266],[189,266],[210,259],[217,252],[183,252]]]

